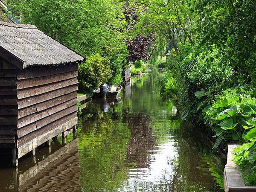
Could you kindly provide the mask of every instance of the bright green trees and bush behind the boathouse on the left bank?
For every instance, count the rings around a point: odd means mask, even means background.
[[[7,3],[22,15],[22,23],[34,24],[89,59],[99,54],[108,62],[111,74],[91,62],[81,64],[79,79],[84,82],[80,83],[79,87],[83,87],[80,91],[95,89],[99,82],[122,82],[122,68],[128,57],[126,33],[122,32],[126,26],[122,4],[112,0],[8,0]],[[92,67],[94,71],[101,70],[94,74],[95,79],[91,80],[94,82],[88,81],[92,76],[84,79],[90,72],[81,73]],[[105,76],[109,76],[108,81]]]

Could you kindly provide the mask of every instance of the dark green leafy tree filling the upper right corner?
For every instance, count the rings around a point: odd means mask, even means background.
[[[199,49],[222,51],[221,64],[230,63],[239,76],[256,84],[256,1],[195,0],[199,15]]]

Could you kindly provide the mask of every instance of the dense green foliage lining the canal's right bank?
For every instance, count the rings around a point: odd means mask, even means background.
[[[234,140],[254,142],[256,2],[132,2],[147,9],[138,29],[162,35],[170,49],[162,93],[177,98],[183,119],[211,127],[214,148]],[[253,165],[255,146],[244,159]]]

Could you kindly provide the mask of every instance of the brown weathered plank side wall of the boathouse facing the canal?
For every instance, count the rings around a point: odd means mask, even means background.
[[[76,125],[77,76],[77,64],[17,70],[19,158],[55,136],[48,132],[59,134]]]

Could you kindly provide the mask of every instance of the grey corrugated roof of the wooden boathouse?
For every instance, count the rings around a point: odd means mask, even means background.
[[[23,62],[23,69],[83,61],[84,57],[41,32],[34,25],[0,22],[0,48]]]

